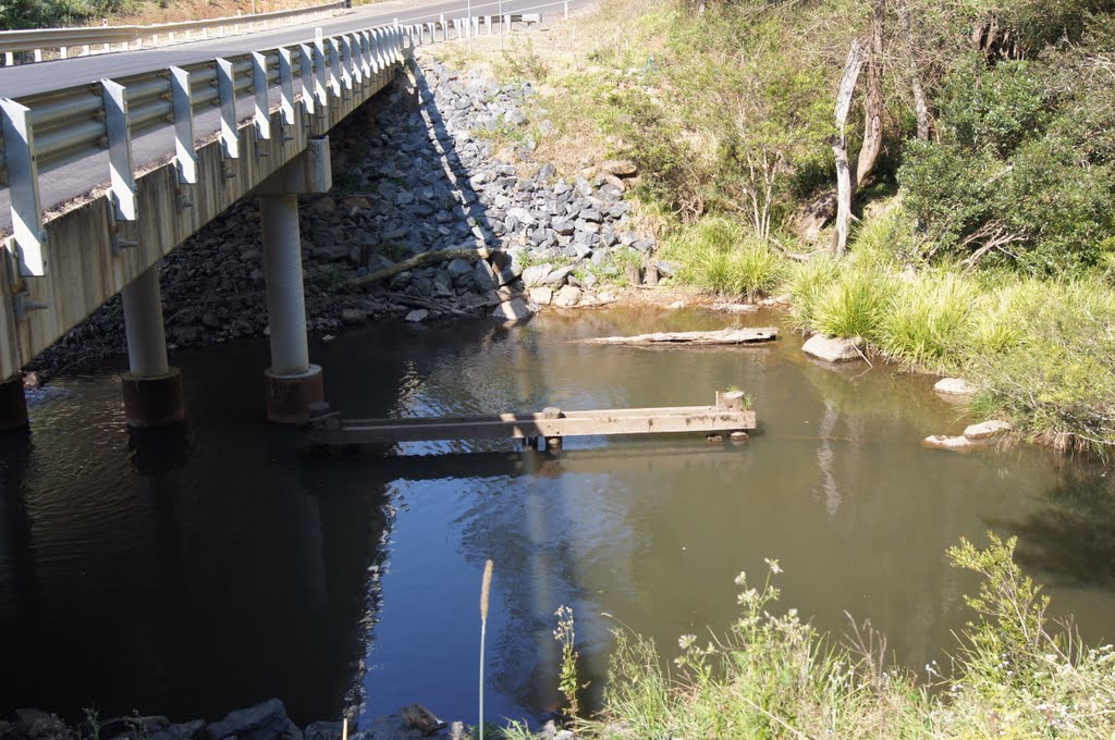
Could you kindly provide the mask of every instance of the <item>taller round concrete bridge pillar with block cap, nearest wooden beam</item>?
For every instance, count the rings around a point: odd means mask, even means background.
[[[263,372],[268,420],[306,423],[310,403],[324,400],[321,368],[310,363],[302,284],[298,193],[332,186],[329,140],[313,139],[306,154],[260,186],[263,272],[266,279],[271,367]]]

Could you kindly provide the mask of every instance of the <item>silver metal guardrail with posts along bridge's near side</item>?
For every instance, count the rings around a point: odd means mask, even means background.
[[[540,13],[505,14],[496,22],[540,22]],[[459,22],[458,22],[459,21]],[[278,91],[282,125],[295,116],[312,117],[350,95],[372,74],[401,62],[419,45],[448,38],[455,28],[478,29],[482,18],[435,21],[408,26],[379,26],[226,58],[169,67],[116,80],[103,79],[51,90],[19,100],[0,98],[0,182],[11,199],[12,244],[23,275],[46,274],[42,204],[39,174],[61,163],[108,149],[109,192],[116,222],[138,218],[133,140],[144,132],[173,125],[173,164],[182,185],[197,182],[196,108],[220,110],[220,140],[226,159],[240,158],[236,98],[249,93],[254,99],[255,138],[269,140],[270,94]],[[486,25],[492,32],[493,17]],[[294,79],[301,80],[300,96]],[[279,133],[282,136],[282,133]]]

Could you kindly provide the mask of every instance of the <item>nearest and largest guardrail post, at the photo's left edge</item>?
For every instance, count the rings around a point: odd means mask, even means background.
[[[8,193],[11,199],[12,241],[21,275],[47,274],[42,245],[42,204],[39,199],[39,166],[35,158],[31,109],[9,98],[0,98],[4,156],[8,162]]]

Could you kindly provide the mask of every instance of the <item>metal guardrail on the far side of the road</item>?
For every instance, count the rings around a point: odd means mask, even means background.
[[[266,13],[254,13],[250,16],[230,16],[225,18],[207,18],[204,20],[188,20],[174,23],[158,23],[154,26],[103,26],[90,28],[38,28],[19,31],[0,31],[0,55],[2,55],[4,66],[12,66],[17,61],[17,53],[30,52],[35,61],[42,61],[43,51],[57,49],[59,57],[68,59],[71,49],[80,49],[77,56],[88,56],[100,51],[112,51],[114,45],[124,48],[140,49],[144,46],[159,46],[174,43],[176,41],[194,40],[194,35],[198,38],[209,38],[210,32],[217,32],[217,36],[240,33],[242,30],[252,31],[261,27],[274,28],[290,22],[304,22],[332,14],[334,11],[348,7],[348,0],[334,0],[323,4],[309,8],[292,8],[290,10],[277,10]],[[231,29],[231,31],[230,31]]]

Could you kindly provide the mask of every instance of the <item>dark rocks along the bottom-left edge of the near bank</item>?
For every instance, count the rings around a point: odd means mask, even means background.
[[[445,722],[421,704],[404,707],[394,714],[377,717],[366,727],[350,722],[350,740],[472,740],[463,722]],[[38,709],[18,709],[10,721],[0,720],[0,740],[340,740],[341,722],[313,722],[299,728],[278,699],[229,712],[216,722],[193,720],[172,722],[165,717],[139,715],[101,720],[90,713],[79,724],[67,724],[56,714]],[[537,740],[573,740],[568,730],[547,722]]]

